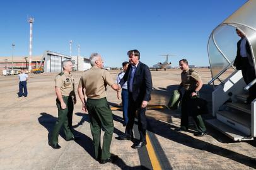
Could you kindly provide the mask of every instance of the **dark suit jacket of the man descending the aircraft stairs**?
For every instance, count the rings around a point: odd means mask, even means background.
[[[236,59],[235,59],[234,64],[233,64],[233,65],[236,66],[237,70],[241,70],[241,68],[242,68],[241,55],[240,55],[240,44],[241,44],[241,39],[237,42]],[[249,64],[250,64],[250,66],[253,67],[252,52],[251,52],[250,45],[249,45],[248,41],[245,44],[245,48],[247,50],[247,54],[248,54],[247,57],[248,57]]]

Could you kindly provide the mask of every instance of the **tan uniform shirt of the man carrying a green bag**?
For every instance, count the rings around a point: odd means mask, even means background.
[[[181,76],[181,84],[185,90],[195,90],[197,86],[197,81],[201,81],[201,77],[199,76],[199,74],[192,69],[182,72]]]

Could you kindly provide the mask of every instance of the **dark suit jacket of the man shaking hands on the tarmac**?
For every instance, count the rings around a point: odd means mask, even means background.
[[[128,65],[127,71],[124,77],[120,80],[119,84],[122,85],[127,81],[127,86],[129,90],[129,77],[132,71],[132,64]],[[147,65],[139,62],[137,65],[136,72],[134,74],[133,84],[132,84],[132,99],[141,103],[142,101],[149,101],[152,91],[152,78],[151,72]]]

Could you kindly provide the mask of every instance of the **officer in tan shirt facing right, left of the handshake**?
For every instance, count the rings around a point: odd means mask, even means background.
[[[58,108],[58,119],[52,130],[50,146],[54,149],[59,149],[58,144],[59,131],[64,128],[66,140],[76,140],[72,132],[72,116],[74,104],[76,104],[76,94],[74,93],[74,78],[70,74],[72,71],[72,62],[65,60],[62,62],[63,72],[55,77],[55,93],[57,96],[56,105]]]

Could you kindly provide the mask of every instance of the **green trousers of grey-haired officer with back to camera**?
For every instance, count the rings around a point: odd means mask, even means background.
[[[113,115],[107,99],[87,99],[87,110],[90,117],[91,135],[95,147],[95,158],[108,159],[113,135]],[[104,130],[103,145],[100,147],[101,128]]]

